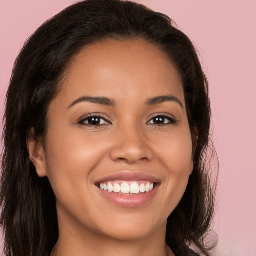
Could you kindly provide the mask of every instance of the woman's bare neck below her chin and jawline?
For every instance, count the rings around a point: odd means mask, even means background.
[[[70,225],[67,230],[59,225],[59,239],[51,256],[174,256],[165,244],[166,223],[161,228],[142,238],[118,240],[91,230],[81,230],[81,227]]]

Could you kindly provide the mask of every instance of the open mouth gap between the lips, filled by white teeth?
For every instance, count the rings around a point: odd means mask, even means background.
[[[136,195],[147,193],[154,189],[156,183],[148,180],[114,180],[97,183],[96,186],[102,190],[122,195]]]

